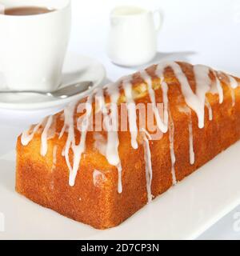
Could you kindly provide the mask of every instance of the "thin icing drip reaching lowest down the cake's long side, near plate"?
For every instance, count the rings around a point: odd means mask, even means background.
[[[146,136],[149,136],[149,134],[146,133],[145,130],[143,131],[144,131],[143,149],[144,149],[144,160],[145,160],[145,170],[146,170],[146,192],[147,192],[147,202],[150,203],[153,198],[151,193],[153,170],[152,170],[151,152],[150,152],[150,145],[149,145],[150,138],[147,138]]]

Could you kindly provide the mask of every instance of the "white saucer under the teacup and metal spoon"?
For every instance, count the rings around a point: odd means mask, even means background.
[[[93,81],[94,87],[99,86],[106,76],[104,66],[93,58],[79,54],[67,53],[62,72],[62,86],[74,82]],[[0,108],[9,110],[42,110],[52,107],[65,106],[68,102],[82,98],[88,94],[82,94],[70,98],[58,99],[38,94],[0,94]]]

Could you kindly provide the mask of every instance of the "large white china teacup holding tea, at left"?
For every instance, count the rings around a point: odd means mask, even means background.
[[[0,0],[4,8],[39,6],[54,11],[0,14],[0,72],[10,90],[57,89],[70,38],[70,0]],[[1,79],[2,80],[2,79]]]

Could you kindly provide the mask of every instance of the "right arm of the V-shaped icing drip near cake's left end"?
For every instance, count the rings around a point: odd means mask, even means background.
[[[72,170],[70,170],[70,178],[69,178],[70,186],[74,186],[75,178],[78,174],[78,168],[82,158],[82,153],[85,151],[85,148],[86,148],[86,134],[87,134],[87,129],[90,123],[90,114],[92,113],[92,98],[93,98],[93,95],[90,95],[86,101],[86,114],[80,125],[80,131],[81,131],[80,142],[78,145],[75,145],[75,143],[72,144],[72,150],[74,152],[74,164],[73,164]]]

